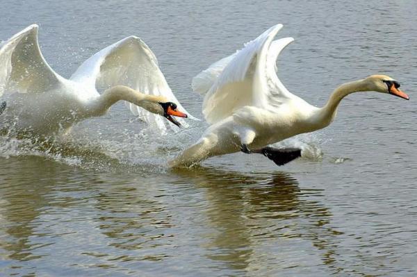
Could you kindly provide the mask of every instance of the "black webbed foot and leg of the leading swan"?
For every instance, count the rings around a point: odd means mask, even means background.
[[[242,146],[240,146],[240,151],[248,154],[262,154],[266,158],[275,162],[276,165],[285,165],[286,163],[291,162],[291,160],[301,157],[301,149],[297,148],[275,149],[266,146],[259,150],[250,150],[247,148],[246,144],[242,144]]]

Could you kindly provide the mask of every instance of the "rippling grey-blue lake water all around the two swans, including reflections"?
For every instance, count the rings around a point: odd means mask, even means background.
[[[416,14],[411,0],[1,3],[0,38],[40,24],[65,77],[138,35],[197,117],[191,78],[277,23],[295,37],[279,58],[291,92],[322,106],[384,73],[411,101],[348,96],[329,128],[284,142],[304,149],[284,167],[236,153],[170,171],[204,121],[161,137],[122,103],[55,142],[0,137],[0,276],[416,276]]]

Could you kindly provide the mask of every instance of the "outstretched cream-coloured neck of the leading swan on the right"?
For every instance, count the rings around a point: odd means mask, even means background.
[[[318,109],[318,112],[314,117],[314,121],[320,125],[322,124],[322,126],[319,126],[319,128],[324,128],[333,121],[334,117],[336,116],[337,107],[345,96],[353,92],[366,92],[369,90],[370,89],[364,80],[344,83],[343,85],[337,87],[336,90],[334,90],[334,92],[330,95],[326,105],[323,108]]]

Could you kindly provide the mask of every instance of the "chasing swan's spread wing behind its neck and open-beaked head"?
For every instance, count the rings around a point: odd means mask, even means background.
[[[168,86],[154,53],[139,37],[126,37],[99,51],[85,60],[71,79],[97,90],[106,90],[114,85],[126,85],[145,94],[165,96],[168,101],[177,103],[179,110],[186,112]],[[163,117],[132,103],[126,102],[126,106],[133,115],[161,129],[172,125]],[[195,119],[188,112],[186,114]],[[182,119],[179,121],[185,124]]]

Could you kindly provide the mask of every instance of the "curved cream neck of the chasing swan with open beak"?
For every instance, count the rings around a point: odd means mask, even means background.
[[[95,114],[103,114],[117,101],[124,100],[135,104],[136,106],[146,106],[151,103],[158,103],[160,99],[154,95],[143,94],[137,90],[133,90],[130,87],[124,85],[116,85],[108,90],[104,91],[103,94],[97,99],[93,112]]]

